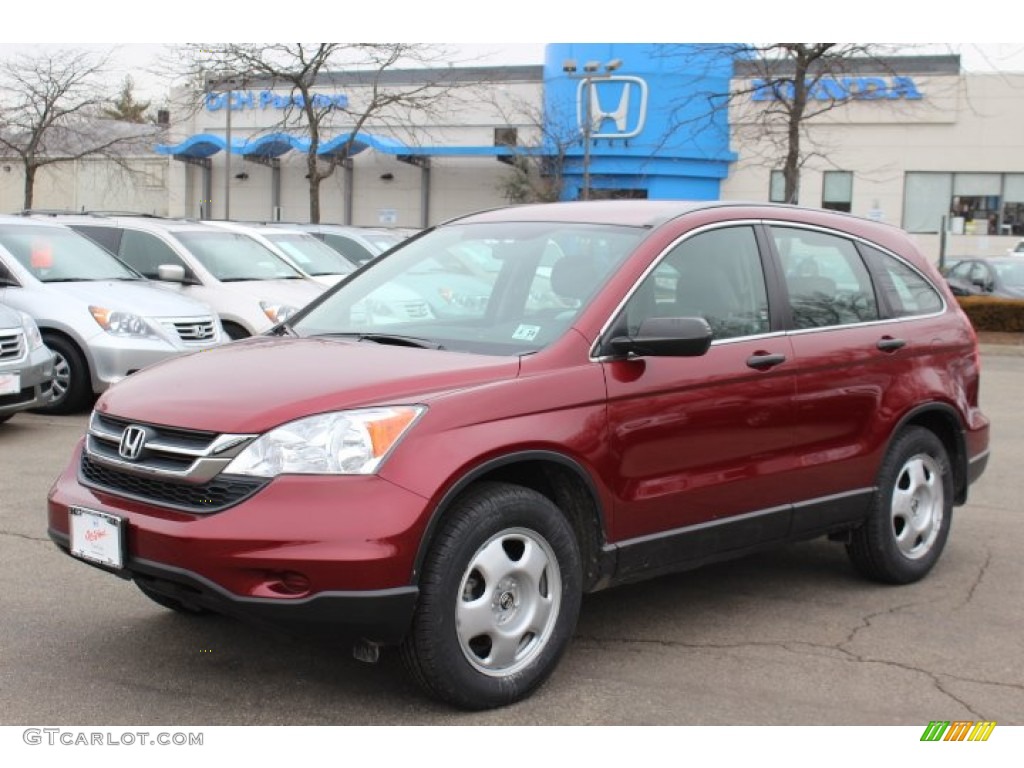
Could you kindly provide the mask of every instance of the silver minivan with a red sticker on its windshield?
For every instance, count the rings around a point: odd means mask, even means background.
[[[31,315],[54,354],[53,396],[72,413],[129,374],[223,342],[210,308],[146,281],[88,238],[0,217],[0,302]]]

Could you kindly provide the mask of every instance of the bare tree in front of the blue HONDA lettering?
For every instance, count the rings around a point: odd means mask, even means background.
[[[697,124],[707,124],[712,115],[731,109],[737,138],[767,145],[766,159],[782,171],[784,202],[795,204],[800,196],[801,169],[822,150],[810,138],[809,126],[851,100],[885,97],[871,89],[861,91],[844,84],[852,82],[851,76],[868,71],[892,75],[890,57],[899,49],[878,43],[664,45],[660,55],[677,59],[680,70],[691,74],[686,62],[696,58],[728,57],[736,69],[727,90],[696,88],[686,103],[677,104],[670,132],[687,123],[694,130]],[[696,72],[695,82],[700,78],[701,73]],[[694,100],[702,106],[694,109]]]

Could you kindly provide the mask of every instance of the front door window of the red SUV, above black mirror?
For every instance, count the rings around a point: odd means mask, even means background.
[[[627,304],[630,333],[648,317],[703,317],[716,340],[767,333],[768,293],[754,228],[712,229],[673,248]]]

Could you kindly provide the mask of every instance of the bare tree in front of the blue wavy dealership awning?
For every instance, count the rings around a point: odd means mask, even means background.
[[[450,79],[447,52],[418,43],[206,43],[189,44],[183,61],[190,82],[209,88],[288,88],[290,98],[274,129],[301,130],[309,139],[306,171],[309,220],[321,220],[321,182],[352,154],[357,133],[369,126],[408,132],[441,115],[458,85]],[[390,77],[415,69],[415,82]],[[411,79],[412,80],[412,79]],[[347,102],[317,97],[315,88],[335,82],[359,86]],[[347,139],[329,156],[318,154],[331,131]]]

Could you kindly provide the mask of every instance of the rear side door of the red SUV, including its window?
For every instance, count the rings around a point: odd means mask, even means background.
[[[859,242],[809,226],[768,232],[791,308],[794,534],[808,536],[863,514],[923,349],[893,316]]]

